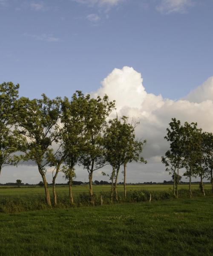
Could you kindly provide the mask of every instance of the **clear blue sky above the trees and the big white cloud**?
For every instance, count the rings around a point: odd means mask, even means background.
[[[178,99],[212,76],[212,13],[212,0],[0,0],[0,82],[71,96],[130,66]]]

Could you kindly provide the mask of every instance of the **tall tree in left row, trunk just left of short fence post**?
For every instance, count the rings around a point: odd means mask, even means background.
[[[115,101],[109,102],[107,95],[103,99],[100,96],[96,99],[91,99],[87,95],[86,99],[87,104],[84,116],[86,142],[82,148],[80,162],[89,175],[90,202],[94,205],[92,175],[95,170],[100,169],[105,164],[102,134],[106,128],[106,119],[115,108]]]

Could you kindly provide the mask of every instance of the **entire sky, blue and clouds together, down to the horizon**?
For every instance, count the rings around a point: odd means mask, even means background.
[[[0,0],[0,82],[29,98],[107,93],[147,139],[148,163],[128,166],[127,182],[169,180],[160,159],[170,119],[213,131],[212,12],[212,0]],[[21,165],[4,167],[0,183],[19,178],[41,180]]]

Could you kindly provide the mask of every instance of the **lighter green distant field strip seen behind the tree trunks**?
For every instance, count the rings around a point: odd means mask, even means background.
[[[188,189],[188,185],[179,185],[179,189]],[[210,184],[204,185],[205,189],[210,189]],[[94,192],[99,193],[100,191],[110,191],[110,185],[94,185]],[[169,191],[173,189],[173,185],[127,185],[127,191],[130,190],[149,190],[149,191]],[[193,184],[192,189],[199,189],[199,184]],[[123,191],[124,187],[122,185],[118,185],[118,191]],[[52,187],[49,186],[50,194],[52,195]],[[58,196],[64,197],[68,196],[69,188],[68,186],[57,186],[56,191]],[[73,186],[73,196],[74,200],[82,192],[89,192],[89,185],[78,185]],[[29,198],[33,200],[35,197],[44,196],[44,188],[43,187],[20,187],[20,188],[4,188],[0,187],[0,199],[1,198]]]

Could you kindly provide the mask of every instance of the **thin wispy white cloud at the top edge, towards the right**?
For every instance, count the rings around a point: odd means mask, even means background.
[[[161,13],[180,12],[184,13],[193,5],[193,0],[161,0],[156,9]]]

